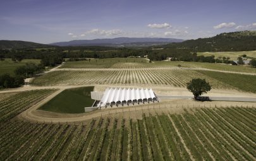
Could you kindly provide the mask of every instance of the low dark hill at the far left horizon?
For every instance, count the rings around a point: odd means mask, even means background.
[[[41,48],[41,47],[53,47],[53,45],[18,41],[18,40],[0,40],[0,49],[25,49],[25,48]]]

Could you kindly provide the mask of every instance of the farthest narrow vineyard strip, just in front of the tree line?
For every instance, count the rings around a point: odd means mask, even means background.
[[[97,60],[97,61],[96,61]],[[89,61],[66,62],[60,68],[114,68],[114,69],[143,69],[143,68],[205,68],[220,71],[233,71],[244,73],[256,73],[255,68],[248,66],[231,66],[229,64],[181,62],[181,61],[155,61],[149,63],[147,59],[116,58],[116,59],[92,59]]]

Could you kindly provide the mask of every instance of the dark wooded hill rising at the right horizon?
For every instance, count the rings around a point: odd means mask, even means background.
[[[214,37],[186,40],[163,48],[190,49],[195,52],[256,51],[256,31],[221,33]]]

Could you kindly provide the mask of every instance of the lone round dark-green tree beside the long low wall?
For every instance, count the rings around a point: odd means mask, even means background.
[[[193,93],[195,100],[202,95],[207,93],[212,89],[210,84],[205,81],[205,79],[193,78],[190,82],[187,83],[186,88]]]

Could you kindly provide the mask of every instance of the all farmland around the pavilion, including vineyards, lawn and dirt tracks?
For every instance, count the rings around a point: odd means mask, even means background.
[[[67,62],[24,88],[0,93],[0,160],[256,160],[255,102],[163,98],[83,113],[94,102],[90,91],[107,86],[186,95],[180,89],[188,81],[205,78],[216,93],[253,97],[254,73],[242,66],[137,58]],[[45,89],[32,90],[39,88]]]

